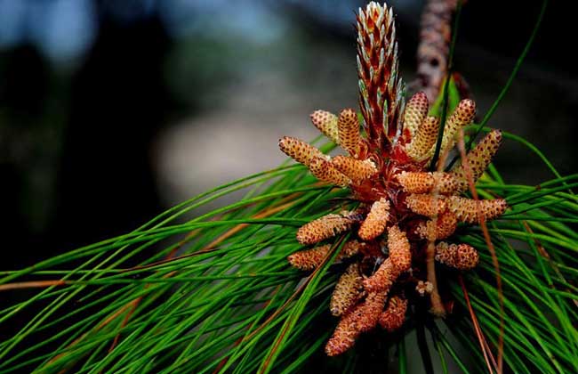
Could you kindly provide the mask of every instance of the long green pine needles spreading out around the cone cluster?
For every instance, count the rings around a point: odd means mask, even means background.
[[[442,110],[452,99],[450,84]],[[489,131],[486,121],[472,128]],[[559,175],[534,145],[503,136],[503,148],[523,144],[528,159],[552,174],[534,186],[510,184],[492,166],[477,185],[480,197],[510,204],[488,226],[502,276],[504,363],[519,373],[578,372],[578,175]],[[197,213],[236,191],[245,198]],[[387,354],[395,354],[398,372],[405,373],[417,354],[405,336],[416,328],[424,360],[436,359],[442,372],[451,365],[487,372],[486,361],[495,372],[500,296],[478,227],[460,227],[456,238],[479,249],[477,269],[438,266],[455,302],[445,321],[412,318],[400,332],[366,334],[347,354],[325,356],[337,323],[328,311],[341,272],[333,258],[346,238],[313,273],[291,268],[286,256],[303,248],[295,240],[299,226],[352,204],[348,191],[285,164],[206,191],[133,232],[0,272],[0,292],[14,296],[0,309],[0,324],[14,331],[0,342],[0,372],[293,373],[313,365],[358,372],[372,364],[365,357],[384,357],[383,367]]]

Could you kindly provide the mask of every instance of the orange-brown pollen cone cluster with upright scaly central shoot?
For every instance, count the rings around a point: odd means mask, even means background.
[[[294,267],[314,270],[339,247],[331,240],[352,232],[336,257],[346,270],[329,305],[340,317],[325,346],[331,356],[347,351],[361,333],[378,325],[386,331],[399,329],[412,297],[438,293],[431,274],[426,275],[428,250],[439,264],[459,270],[475,267],[478,251],[452,243],[452,235],[458,224],[494,219],[507,207],[503,199],[461,196],[490,164],[502,140],[499,130],[486,134],[451,171],[441,171],[443,165],[428,171],[439,119],[428,115],[425,93],[415,93],[405,103],[404,85],[397,77],[395,35],[393,12],[387,6],[372,2],[359,9],[357,73],[363,121],[359,123],[352,109],[338,116],[324,110],[311,114],[313,125],[348,155],[331,158],[289,136],[279,141],[280,149],[317,179],[349,188],[359,202],[355,210],[303,225],[297,240],[312,248],[288,257]],[[475,102],[459,102],[446,120],[441,155],[454,149],[460,130],[470,125],[475,113]]]

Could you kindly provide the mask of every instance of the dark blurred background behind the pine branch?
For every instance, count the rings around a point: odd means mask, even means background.
[[[551,2],[490,126],[576,171],[572,12]],[[3,269],[128,232],[209,187],[276,167],[277,139],[317,133],[309,113],[357,103],[355,0],[0,0]],[[423,1],[397,12],[405,81]],[[483,114],[540,1],[470,0],[455,65]],[[566,25],[566,26],[564,26]],[[561,46],[562,45],[562,46]],[[510,183],[550,178],[507,142]]]

